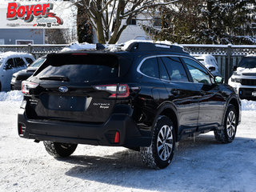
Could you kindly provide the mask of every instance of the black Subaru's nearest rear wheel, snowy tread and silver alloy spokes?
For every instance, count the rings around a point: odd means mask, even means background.
[[[162,146],[162,147],[161,147]],[[163,169],[169,166],[175,148],[175,129],[173,122],[166,116],[159,116],[154,126],[151,145],[141,147],[142,161],[146,166]]]

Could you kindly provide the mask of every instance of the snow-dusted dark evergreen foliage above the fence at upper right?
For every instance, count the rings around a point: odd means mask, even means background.
[[[254,44],[255,13],[252,0],[180,0],[162,10],[162,30],[144,29],[170,42]]]

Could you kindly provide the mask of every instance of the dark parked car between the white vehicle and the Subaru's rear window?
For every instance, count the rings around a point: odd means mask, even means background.
[[[22,81],[29,78],[34,71],[46,60],[46,57],[38,58],[36,61],[31,63],[25,70],[20,70],[17,73],[13,74],[10,82],[10,90],[21,90]]]

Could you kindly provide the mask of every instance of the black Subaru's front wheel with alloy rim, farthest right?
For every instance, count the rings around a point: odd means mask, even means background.
[[[214,130],[214,136],[217,142],[221,143],[229,143],[233,142],[235,134],[237,132],[237,112],[233,105],[229,105],[225,118],[224,118],[224,129],[222,130]]]

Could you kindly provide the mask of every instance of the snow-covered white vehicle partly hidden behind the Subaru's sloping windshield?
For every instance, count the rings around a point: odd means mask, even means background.
[[[206,66],[206,68],[210,70],[210,73],[214,74],[214,76],[222,76],[218,71],[218,64],[214,56],[211,54],[192,54],[192,56]]]

